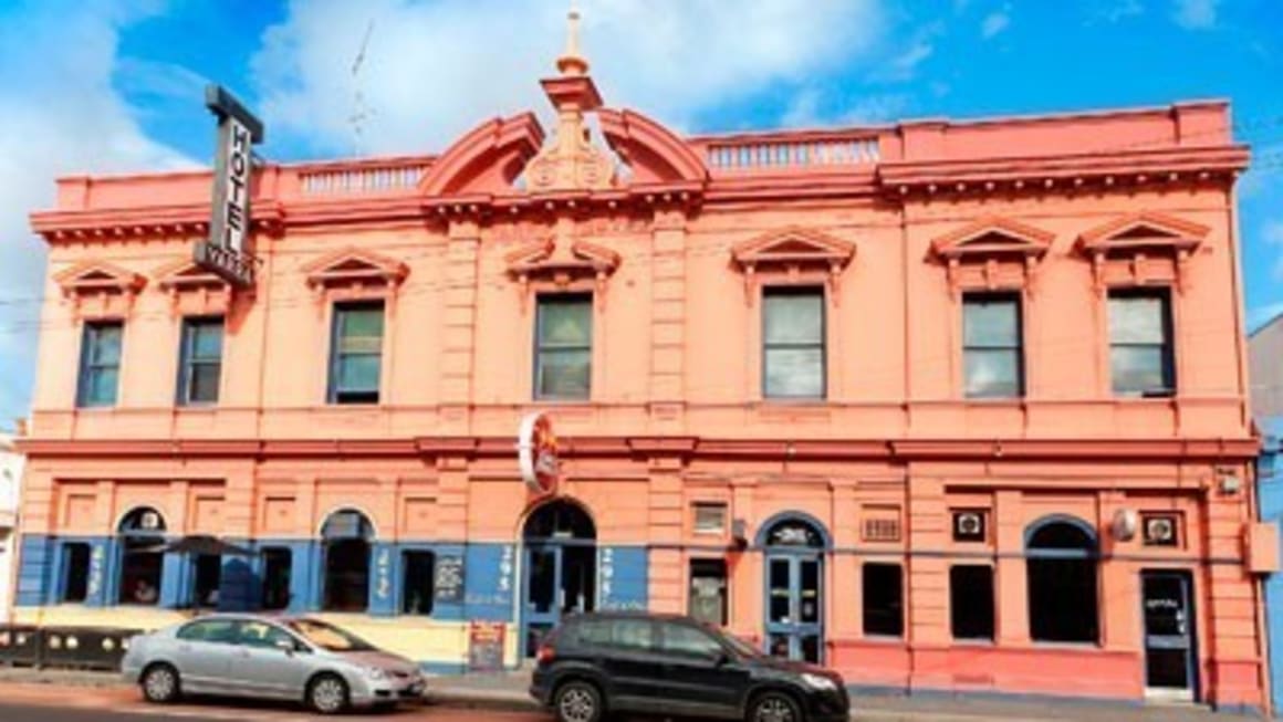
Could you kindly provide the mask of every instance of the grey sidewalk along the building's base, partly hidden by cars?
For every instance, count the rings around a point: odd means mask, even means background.
[[[423,693],[429,705],[530,712],[538,709],[526,693],[529,672],[430,677]],[[0,668],[4,685],[50,685],[81,689],[124,689],[119,676],[65,669]],[[1107,703],[1057,700],[955,699],[947,695],[852,696],[853,718],[860,722],[1237,722],[1253,719],[1215,713],[1202,707],[1128,707]],[[549,717],[550,718],[550,717]]]

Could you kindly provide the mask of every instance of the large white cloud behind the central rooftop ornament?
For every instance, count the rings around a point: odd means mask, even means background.
[[[885,28],[880,0],[586,0],[581,10],[606,103],[677,127],[867,58]],[[565,12],[557,0],[293,3],[253,64],[268,140],[353,150],[352,62],[371,21],[363,151],[443,150],[486,118],[547,112],[538,81],[554,73]],[[903,60],[908,71],[920,56]]]

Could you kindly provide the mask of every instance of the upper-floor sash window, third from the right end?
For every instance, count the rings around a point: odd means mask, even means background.
[[[767,399],[824,399],[824,290],[766,289],[762,294],[762,394]]]

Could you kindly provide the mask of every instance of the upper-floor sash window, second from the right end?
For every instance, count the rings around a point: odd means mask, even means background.
[[[1019,294],[962,296],[962,365],[967,399],[1024,394]]]

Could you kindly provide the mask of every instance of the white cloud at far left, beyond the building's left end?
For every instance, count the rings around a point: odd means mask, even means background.
[[[189,164],[144,135],[112,88],[118,31],[139,8],[33,5],[0,27],[0,426],[30,403],[45,246],[27,214],[51,208],[54,178]]]

